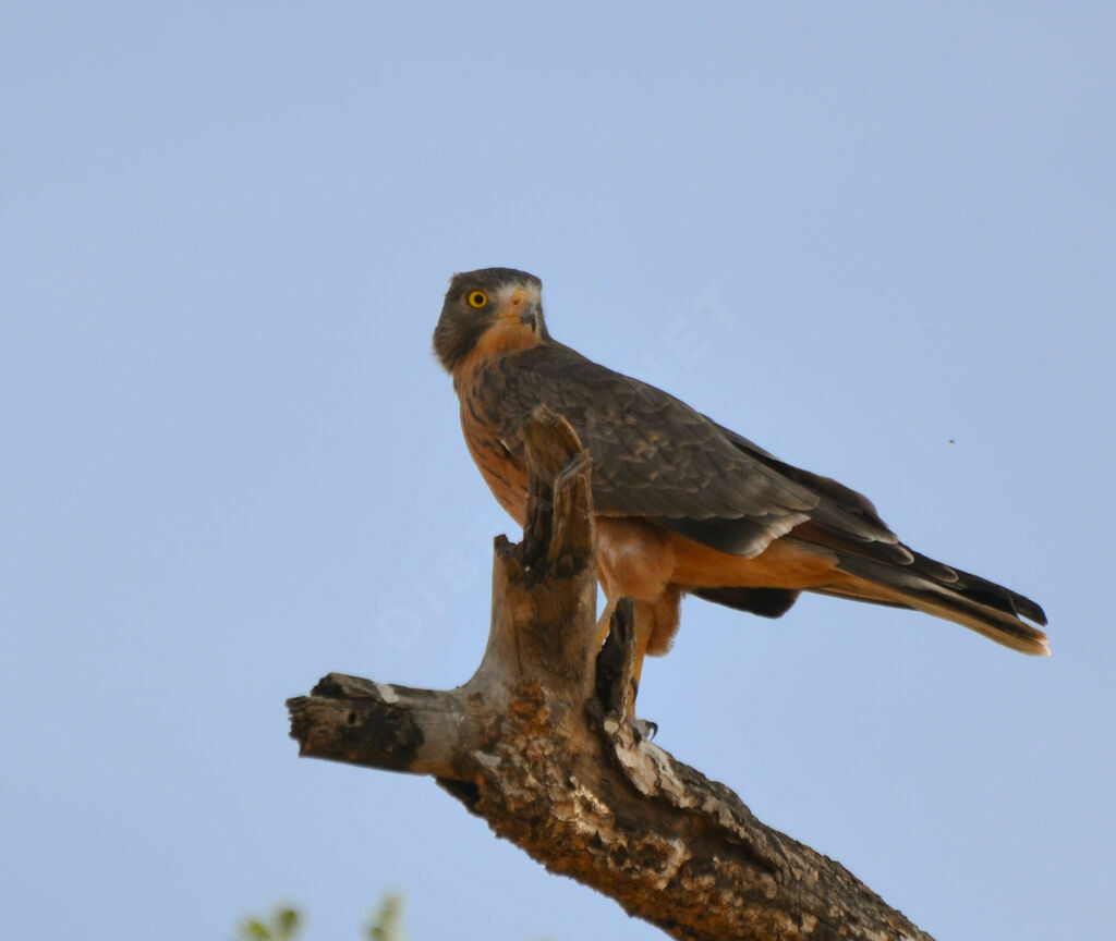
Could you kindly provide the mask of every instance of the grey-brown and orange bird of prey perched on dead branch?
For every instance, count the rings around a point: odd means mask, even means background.
[[[855,491],[554,340],[541,290],[507,268],[455,274],[434,352],[453,377],[470,454],[518,523],[527,476],[517,433],[536,406],[565,416],[588,448],[602,624],[633,599],[639,666],[670,649],[687,594],[778,618],[800,592],[819,592],[913,608],[1049,653],[1033,625],[1046,614],[1030,599],[915,552]]]

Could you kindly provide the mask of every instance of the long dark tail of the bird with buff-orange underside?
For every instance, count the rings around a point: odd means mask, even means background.
[[[925,555],[910,554],[913,556],[910,564],[897,565],[891,561],[839,552],[837,567],[847,578],[812,590],[858,601],[913,608],[963,624],[1021,653],[1049,656],[1047,636],[1027,623],[1032,621],[1045,625],[1047,622],[1046,612],[1036,602]]]

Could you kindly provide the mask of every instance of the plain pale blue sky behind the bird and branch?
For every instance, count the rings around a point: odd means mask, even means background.
[[[1104,3],[36,3],[0,35],[0,896],[13,938],[652,939],[431,782],[299,760],[341,670],[464,680],[491,537],[449,275],[868,494],[1033,660],[691,601],[660,743],[940,938],[1110,937]]]

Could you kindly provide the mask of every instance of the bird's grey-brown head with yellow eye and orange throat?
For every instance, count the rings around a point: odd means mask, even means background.
[[[485,268],[454,274],[434,328],[434,353],[453,372],[470,353],[510,352],[547,342],[542,282],[526,271]]]

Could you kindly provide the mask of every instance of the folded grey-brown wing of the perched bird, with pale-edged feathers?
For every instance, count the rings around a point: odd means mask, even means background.
[[[723,429],[673,396],[559,343],[501,358],[487,380],[502,437],[537,405],[566,416],[594,459],[597,512],[641,516],[738,555],[811,517],[819,496],[735,447]]]

